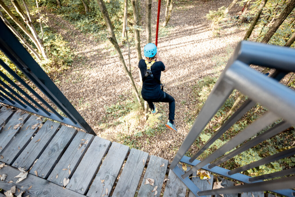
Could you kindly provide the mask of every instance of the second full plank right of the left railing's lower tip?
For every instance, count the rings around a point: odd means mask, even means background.
[[[112,143],[86,196],[102,196],[103,193],[106,193],[106,189],[108,189],[109,192],[105,197],[110,195],[128,151],[128,146],[117,142]]]

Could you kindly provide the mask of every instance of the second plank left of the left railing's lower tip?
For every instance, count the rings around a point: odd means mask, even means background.
[[[66,126],[60,127],[58,132],[50,141],[49,145],[30,170],[30,174],[35,175],[35,171],[37,171],[37,175],[39,177],[47,179],[54,166],[60,160],[63,152],[65,152],[66,148],[75,137],[76,133],[76,129]]]

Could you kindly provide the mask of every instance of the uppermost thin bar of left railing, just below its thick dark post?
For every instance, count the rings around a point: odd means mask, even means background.
[[[0,59],[0,65],[10,74],[12,75],[19,83],[21,83],[25,88],[27,88],[36,98],[38,98],[48,109],[50,109],[60,120],[63,120],[63,116],[61,116],[55,109],[53,109],[50,104],[48,104],[31,86],[29,86],[22,78],[19,77],[9,66],[7,66],[1,59]],[[18,87],[18,86],[17,86]],[[16,87],[15,87],[16,88]],[[32,101],[33,102],[33,101]],[[35,105],[37,105],[37,102],[33,102]],[[38,105],[37,105],[38,106]],[[40,108],[41,109],[41,108]],[[45,110],[46,111],[46,110]],[[49,113],[49,112],[47,112]],[[50,114],[47,114],[50,115]]]

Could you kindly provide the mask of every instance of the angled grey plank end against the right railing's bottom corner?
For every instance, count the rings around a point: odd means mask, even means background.
[[[182,166],[180,164],[178,164],[177,166],[183,171]],[[190,170],[190,167],[187,167],[187,170]],[[163,197],[167,196],[186,196],[186,185],[178,178],[178,176],[172,170],[169,170],[168,180],[166,183]]]

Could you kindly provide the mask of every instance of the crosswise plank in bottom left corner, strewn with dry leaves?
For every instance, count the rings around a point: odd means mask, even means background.
[[[10,190],[11,187],[16,185],[16,193],[14,196],[19,194],[18,189],[21,191],[25,191],[22,196],[30,195],[30,197],[34,196],[46,196],[46,197],[56,197],[56,196],[73,196],[73,197],[82,197],[83,195],[71,191],[69,189],[63,189],[54,183],[50,183],[49,181],[42,179],[40,177],[28,174],[27,178],[16,183],[18,178],[14,178],[20,172],[16,168],[11,166],[3,167],[0,169],[1,174],[6,174],[7,177],[4,181],[0,181],[0,188],[3,190]],[[8,183],[9,181],[13,181],[12,183]]]

